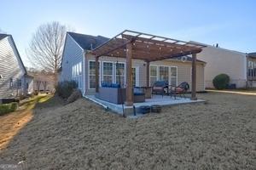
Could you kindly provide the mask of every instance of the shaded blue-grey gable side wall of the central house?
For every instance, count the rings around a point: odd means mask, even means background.
[[[80,62],[84,65],[84,50],[80,48],[79,44],[73,40],[73,38],[67,34],[65,47],[63,51],[63,59],[61,62],[61,73],[59,82],[73,80],[73,65],[77,65]],[[82,82],[84,82],[84,66],[82,66]],[[82,83],[83,84],[83,83]],[[84,85],[82,85],[82,93],[84,93]]]

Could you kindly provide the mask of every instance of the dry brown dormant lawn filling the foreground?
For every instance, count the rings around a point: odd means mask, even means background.
[[[29,169],[255,169],[256,97],[198,97],[207,104],[176,105],[138,119],[85,99],[69,105],[43,100],[0,160],[26,161]]]

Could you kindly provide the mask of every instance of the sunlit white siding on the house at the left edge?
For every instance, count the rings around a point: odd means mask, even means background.
[[[24,67],[18,57],[12,37],[5,37],[0,40],[0,99],[14,98],[18,93],[24,93],[26,88]],[[10,88],[10,78],[13,79],[13,87]],[[21,87],[17,89],[17,79],[21,80]]]

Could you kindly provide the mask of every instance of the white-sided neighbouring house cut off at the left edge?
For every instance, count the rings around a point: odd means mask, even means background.
[[[28,93],[26,68],[11,35],[0,34],[0,103]]]

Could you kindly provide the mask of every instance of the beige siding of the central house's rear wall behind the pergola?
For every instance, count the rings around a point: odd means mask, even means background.
[[[91,54],[86,54],[85,57],[85,85],[86,85],[86,94],[94,94],[95,89],[90,89],[89,87],[89,61],[95,60],[95,57]],[[106,57],[102,56],[99,59],[100,65],[102,65],[103,61],[110,61],[115,63],[118,60],[119,63],[125,62],[123,58],[115,58],[115,57]],[[151,62],[150,65],[166,65],[166,66],[177,66],[177,85],[181,82],[189,82],[191,86],[191,62],[182,62],[174,59],[166,59],[161,61]],[[125,65],[126,66],[126,65]],[[132,66],[137,66],[139,68],[139,86],[146,86],[146,63],[140,59],[133,59]],[[204,67],[205,64],[202,62],[197,62],[197,70],[196,70],[196,90],[204,91],[205,83],[204,83]],[[113,65],[113,75],[115,75],[115,65]],[[100,73],[100,82],[102,80],[102,69]],[[115,77],[114,77],[115,78]],[[114,79],[113,78],[113,79]]]

